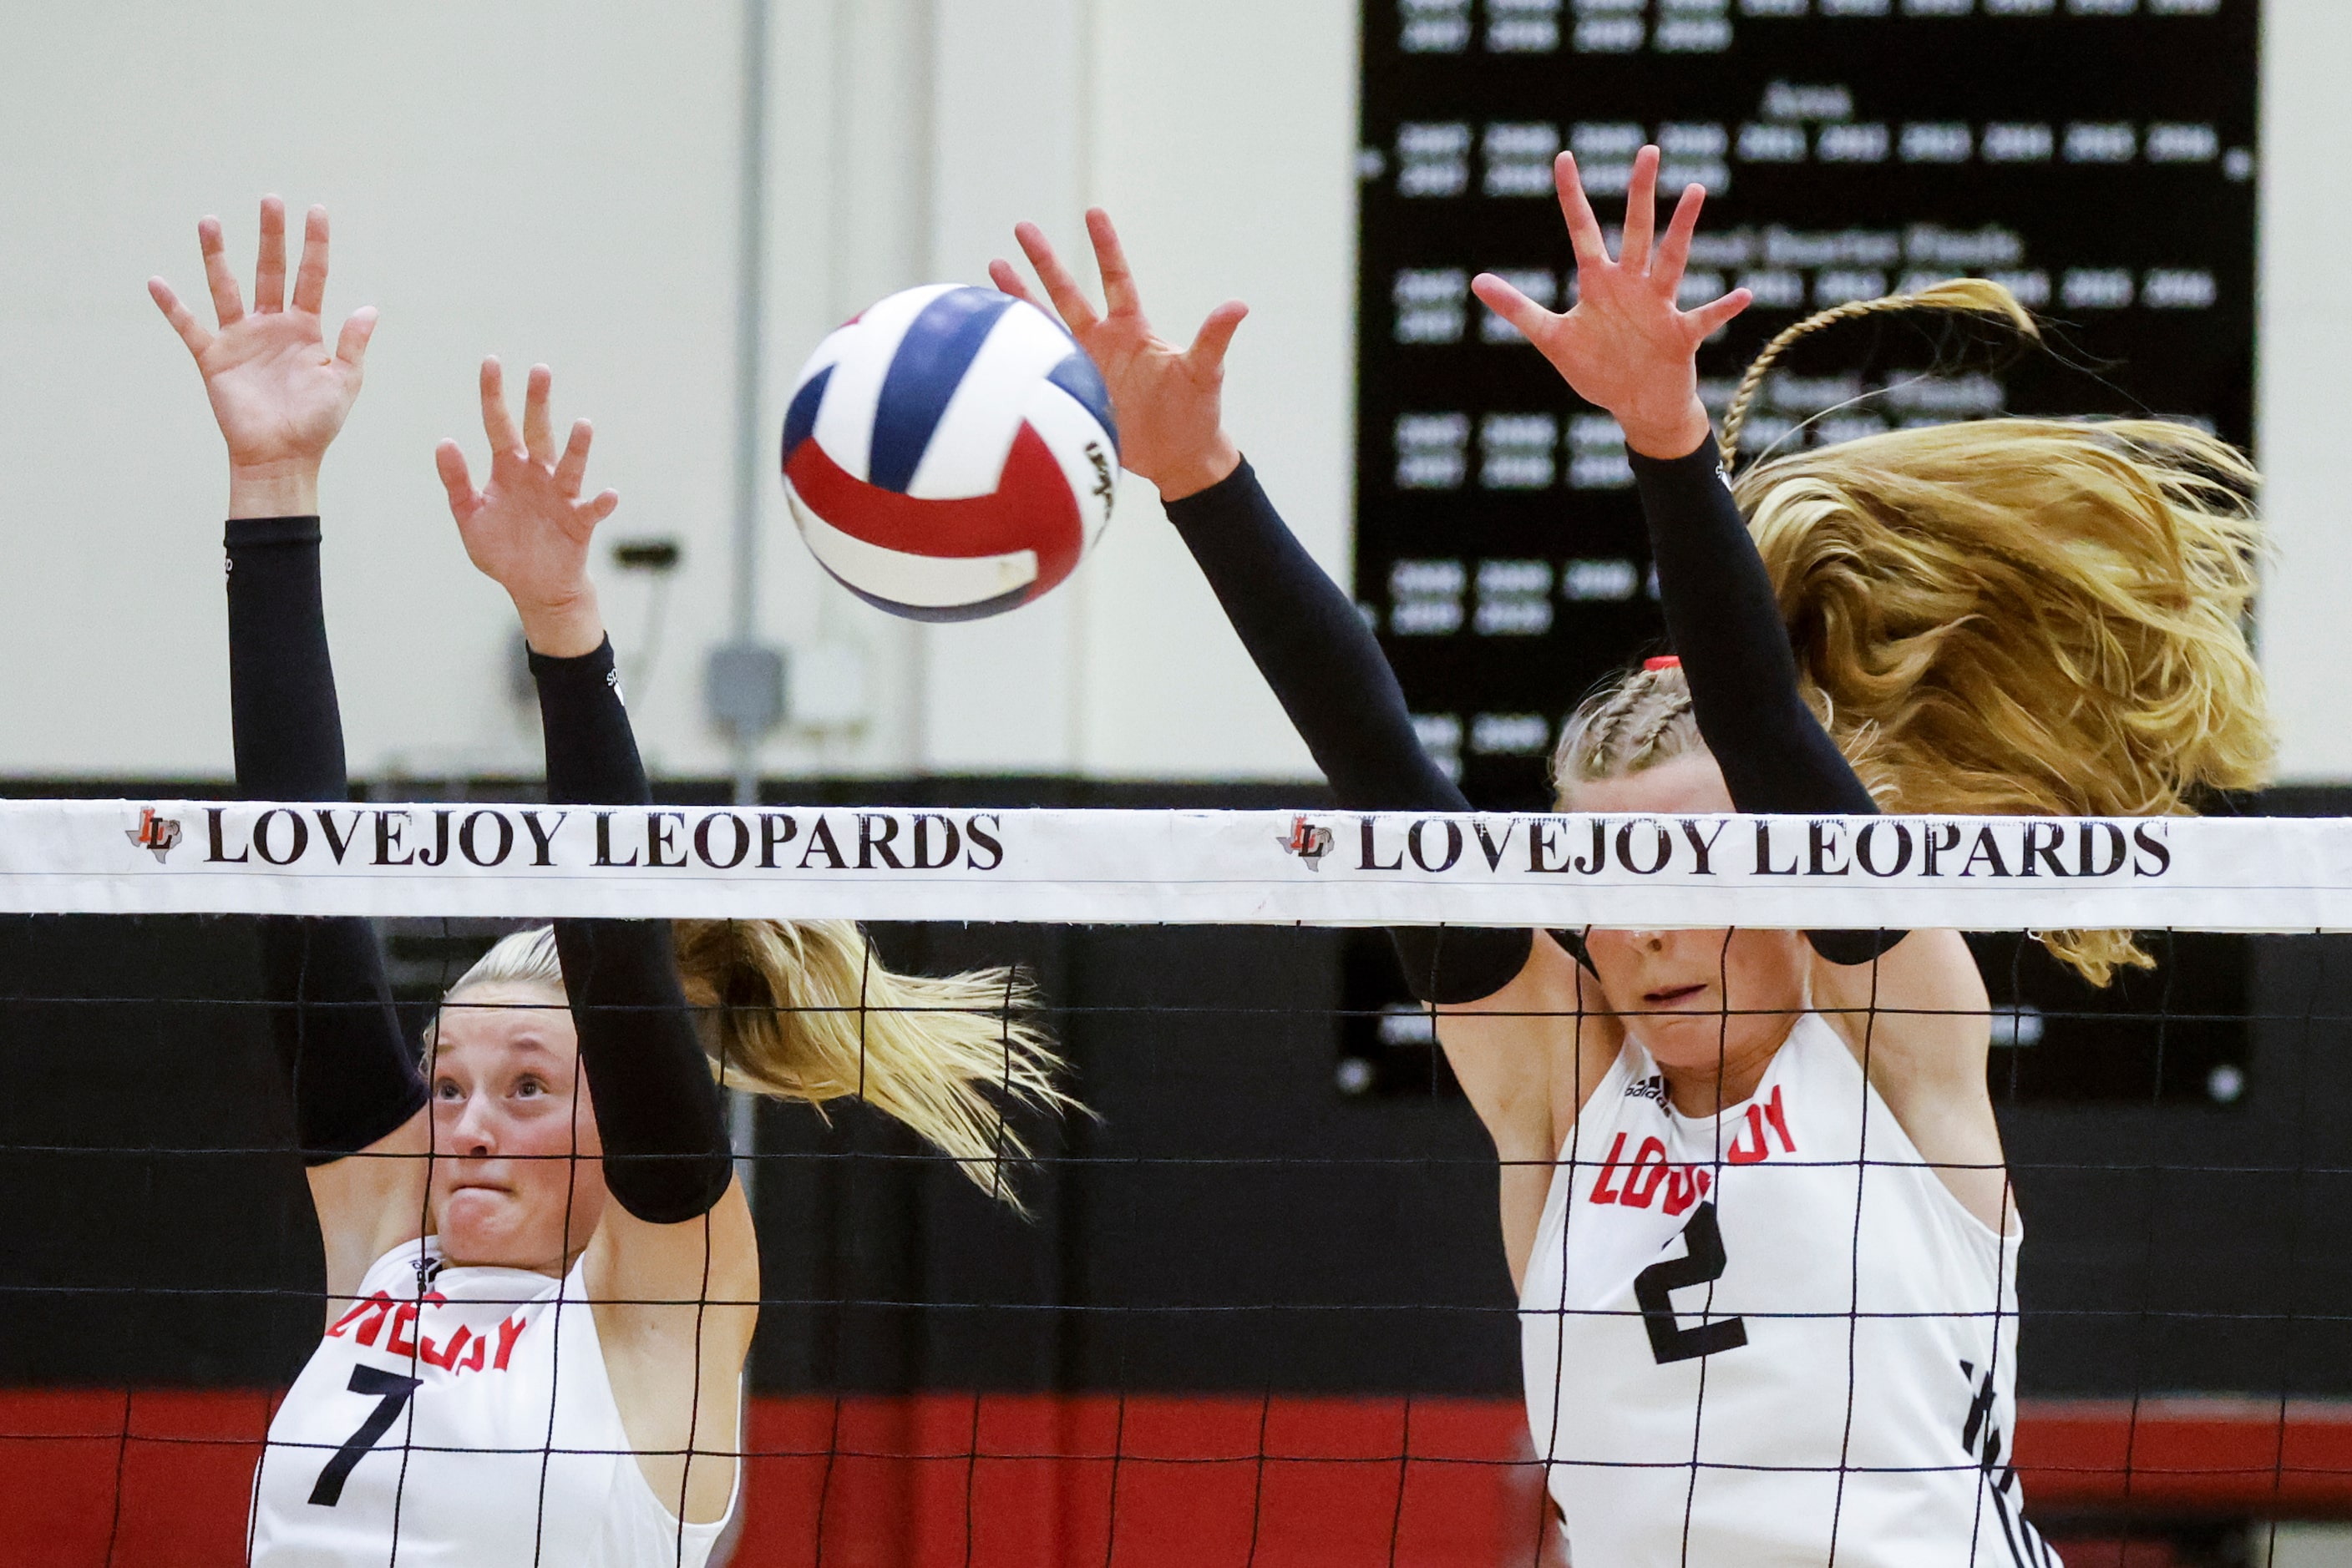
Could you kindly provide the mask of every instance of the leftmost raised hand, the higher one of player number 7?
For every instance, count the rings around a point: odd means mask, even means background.
[[[261,259],[254,268],[254,308],[245,308],[228,270],[221,221],[195,226],[212,289],[214,329],[207,331],[162,277],[148,294],[205,376],[212,416],[228,440],[228,515],[273,517],[318,510],[318,465],[343,428],[360,395],[367,339],[376,329],[374,306],[343,322],[334,353],[320,306],[327,299],[327,209],[313,207],[303,223],[301,270],[287,303],[287,207],[261,197]]]

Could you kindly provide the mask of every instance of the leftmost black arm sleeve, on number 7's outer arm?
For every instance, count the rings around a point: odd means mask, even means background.
[[[228,524],[228,712],[247,799],[343,799],[318,517]],[[423,1107],[416,1051],[365,919],[263,917],[261,983],[303,1164],[365,1150]]]

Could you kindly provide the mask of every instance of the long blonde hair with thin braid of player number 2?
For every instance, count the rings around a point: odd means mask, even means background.
[[[1762,371],[1795,339],[1877,310],[1973,310],[2032,331],[1992,282],[1860,301],[1783,331],[1724,418],[1724,461]],[[2258,475],[2159,418],[1987,418],[1891,430],[1757,463],[1731,494],[1764,557],[1806,701],[1896,811],[2171,816],[2267,780],[2272,729],[2246,646]],[[1679,668],[1595,693],[1555,752],[1562,790],[1700,750]],[[2042,943],[2105,985],[2154,959],[2129,931]]]

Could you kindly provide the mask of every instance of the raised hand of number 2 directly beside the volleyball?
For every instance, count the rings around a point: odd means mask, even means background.
[[[1120,249],[1120,230],[1101,207],[1087,212],[1094,266],[1103,275],[1101,313],[1047,244],[1042,228],[1018,223],[1014,237],[1054,303],[1044,306],[1030,294],[1021,273],[1007,261],[990,261],[988,277],[1007,294],[1061,315],[1061,324],[1103,371],[1110,411],[1120,421],[1120,463],[1157,484],[1162,501],[1181,501],[1230,475],[1242,451],[1223,423],[1225,348],[1232,346],[1232,331],[1249,315],[1249,306],[1237,299],[1225,301],[1200,324],[1190,348],[1176,348],[1143,317],[1136,275],[1127,268],[1127,252]]]

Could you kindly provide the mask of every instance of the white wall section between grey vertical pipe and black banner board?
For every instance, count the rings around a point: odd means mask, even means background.
[[[1098,202],[1167,336],[1251,303],[1228,418],[1345,574],[1355,52],[1352,0],[776,0],[762,423],[842,317],[913,282],[985,282],[1018,219],[1084,263]],[[797,545],[781,491],[762,498],[769,635],[826,654],[802,668],[863,663],[873,696],[861,731],[786,731],[769,769],[1312,776],[1148,484],[1127,480],[1065,588],[974,625],[858,604]]]

